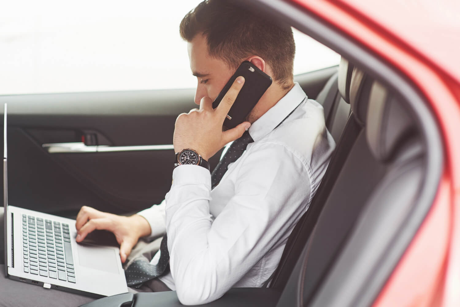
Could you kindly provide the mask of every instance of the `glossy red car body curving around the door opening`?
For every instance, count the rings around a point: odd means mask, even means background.
[[[294,0],[391,64],[437,118],[442,180],[374,307],[460,306],[460,2]]]

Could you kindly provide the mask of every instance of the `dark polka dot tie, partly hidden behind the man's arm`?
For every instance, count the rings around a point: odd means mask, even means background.
[[[235,162],[246,150],[247,144],[254,140],[246,131],[242,137],[235,140],[225,153],[224,157],[214,168],[211,174],[211,186],[214,188],[219,184],[230,163]],[[163,237],[160,244],[160,260],[157,264],[150,264],[146,258],[139,257],[133,261],[125,271],[128,286],[140,288],[142,284],[150,279],[163,275],[169,269],[169,252],[167,246],[167,235]]]

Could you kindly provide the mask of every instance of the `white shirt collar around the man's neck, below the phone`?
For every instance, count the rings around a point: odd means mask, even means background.
[[[286,116],[306,98],[306,96],[307,95],[302,87],[300,87],[299,83],[294,82],[293,88],[249,127],[249,134],[253,140],[257,141],[262,139],[275,129],[275,127],[282,122],[282,120],[285,119]]]

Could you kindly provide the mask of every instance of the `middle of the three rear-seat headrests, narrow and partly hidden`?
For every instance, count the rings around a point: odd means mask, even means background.
[[[364,124],[368,113],[369,95],[373,80],[358,68],[353,68],[350,81],[351,110],[358,122]]]

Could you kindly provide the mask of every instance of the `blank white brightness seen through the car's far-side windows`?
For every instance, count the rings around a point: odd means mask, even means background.
[[[196,87],[179,23],[199,0],[10,0],[0,10],[0,94]],[[294,74],[339,55],[294,30]]]

